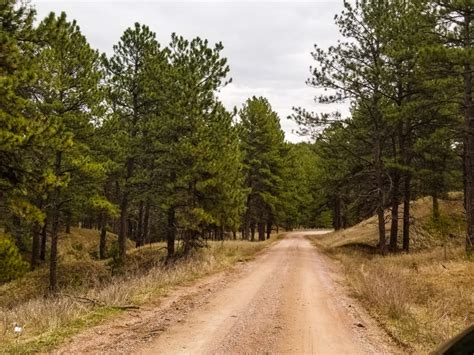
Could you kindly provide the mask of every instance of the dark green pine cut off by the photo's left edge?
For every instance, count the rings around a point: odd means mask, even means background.
[[[20,221],[40,225],[44,220],[29,192],[45,184],[44,168],[35,158],[50,133],[28,100],[37,74],[34,15],[18,1],[0,4],[0,223],[22,248],[28,228]]]

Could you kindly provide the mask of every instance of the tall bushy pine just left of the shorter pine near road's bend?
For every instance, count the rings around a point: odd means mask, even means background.
[[[199,198],[203,175],[209,173],[201,171],[203,160],[207,160],[202,149],[212,143],[211,123],[216,117],[226,116],[219,114],[221,109],[216,111],[215,93],[227,83],[229,67],[221,57],[221,43],[210,47],[207,40],[188,41],[173,34],[169,48],[168,102],[172,105],[165,108],[155,145],[161,152],[156,162],[160,181],[166,187],[163,205],[168,256],[172,257],[178,230],[182,231],[187,252],[202,235],[204,225],[215,222],[202,209]]]

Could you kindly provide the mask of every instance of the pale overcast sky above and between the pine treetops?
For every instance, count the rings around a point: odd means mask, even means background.
[[[293,106],[316,112],[315,90],[305,85],[313,64],[313,45],[327,47],[338,38],[334,15],[342,0],[312,1],[106,1],[32,0],[38,18],[65,11],[76,19],[91,45],[110,53],[123,31],[135,22],[147,24],[162,45],[176,32],[224,44],[233,82],[220,92],[232,109],[253,95],[265,96],[278,112],[286,137],[300,141],[296,125],[286,119]]]

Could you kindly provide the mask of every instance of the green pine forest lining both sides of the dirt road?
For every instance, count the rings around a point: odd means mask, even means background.
[[[307,84],[317,102],[350,102],[351,116],[295,108],[314,143],[291,144],[265,98],[233,112],[219,101],[231,81],[221,43],[173,34],[162,46],[136,23],[107,57],[65,13],[35,24],[34,8],[5,2],[2,281],[26,271],[28,254],[30,269],[48,260],[54,291],[58,238],[71,226],[98,230],[100,259],[117,234],[124,263],[127,239],[166,241],[171,258],[207,239],[339,230],[375,213],[380,252],[400,242],[409,251],[410,201],[431,196],[436,219],[438,199],[459,190],[471,252],[473,8],[346,2],[336,16],[344,40],[315,46]]]

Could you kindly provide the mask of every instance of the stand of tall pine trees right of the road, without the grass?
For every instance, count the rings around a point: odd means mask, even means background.
[[[375,213],[379,252],[408,252],[410,201],[431,196],[437,222],[439,199],[463,191],[472,254],[474,4],[344,3],[335,17],[343,40],[315,46],[307,84],[319,89],[320,103],[349,101],[351,116],[304,108],[293,115],[316,140],[318,188],[333,207],[334,228]]]

